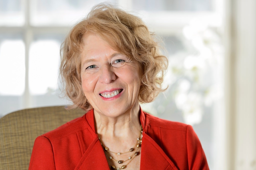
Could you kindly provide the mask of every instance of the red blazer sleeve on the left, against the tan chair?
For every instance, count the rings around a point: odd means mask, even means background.
[[[44,136],[39,136],[36,138],[28,169],[56,169],[52,145],[48,138]]]

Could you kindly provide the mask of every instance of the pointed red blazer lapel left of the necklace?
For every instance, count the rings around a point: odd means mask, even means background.
[[[75,168],[75,170],[82,169],[109,169],[98,137],[90,144]]]

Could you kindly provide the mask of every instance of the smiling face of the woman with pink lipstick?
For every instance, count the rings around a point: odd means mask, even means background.
[[[95,34],[83,40],[81,79],[84,95],[101,115],[116,117],[138,103],[139,63],[113,50]]]

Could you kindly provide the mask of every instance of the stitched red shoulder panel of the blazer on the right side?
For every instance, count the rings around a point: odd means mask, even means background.
[[[187,131],[187,128],[189,125],[180,123],[180,122],[173,122],[170,120],[165,120],[162,118],[158,118],[156,116],[153,116],[149,113],[145,113],[145,122],[148,126],[151,127],[159,127],[159,128],[164,128],[166,130],[182,130],[182,131]]]

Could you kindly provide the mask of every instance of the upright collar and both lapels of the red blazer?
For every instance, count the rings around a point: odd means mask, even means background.
[[[95,133],[93,110],[86,114],[86,119],[91,128],[88,130],[93,133],[94,140],[83,154],[75,170],[81,169],[109,169],[105,153],[100,144],[98,135]],[[174,163],[169,159],[161,147],[147,135],[147,120],[145,113],[140,108],[140,121],[143,127],[143,138],[141,147],[140,169],[165,169],[178,170]]]

